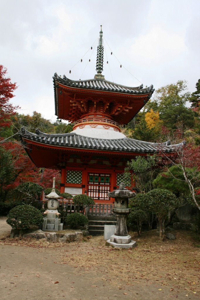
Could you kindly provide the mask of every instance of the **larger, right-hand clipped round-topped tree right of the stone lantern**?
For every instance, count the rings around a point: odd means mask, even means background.
[[[153,189],[146,196],[149,199],[149,206],[159,223],[159,237],[162,238],[162,230],[165,232],[165,220],[168,218],[169,211],[178,205],[177,197],[169,190]]]

